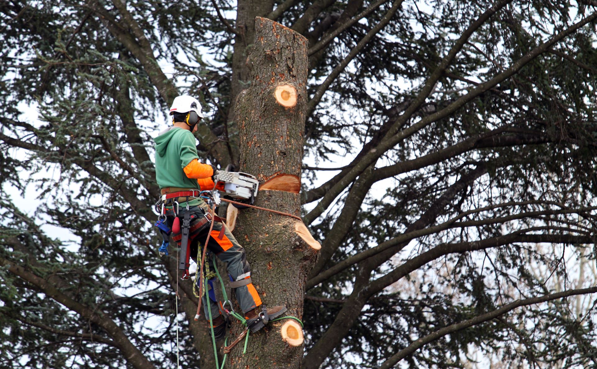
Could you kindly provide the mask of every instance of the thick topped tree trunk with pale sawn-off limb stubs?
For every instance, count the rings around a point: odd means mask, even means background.
[[[262,183],[280,174],[290,174],[288,177],[300,182],[307,106],[307,40],[282,24],[257,17],[255,43],[247,64],[251,86],[242,91],[236,105],[241,170],[256,175]],[[298,193],[285,190],[260,190],[256,205],[300,214]],[[302,318],[304,286],[316,250],[298,236],[297,223],[302,226],[291,217],[244,209],[239,212],[234,233],[247,250],[253,284],[263,303],[286,305],[287,315]],[[251,334],[245,355],[244,345],[237,345],[230,354],[230,366],[300,367],[303,345],[292,347],[282,341],[283,323],[270,323]],[[236,324],[233,336],[240,332]]]

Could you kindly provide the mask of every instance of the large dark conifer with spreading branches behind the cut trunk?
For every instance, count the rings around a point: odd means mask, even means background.
[[[257,16],[309,42],[302,366],[595,365],[596,5],[2,2],[2,366],[172,367],[176,320],[213,364],[156,255],[150,137],[200,96],[198,149],[243,164]]]

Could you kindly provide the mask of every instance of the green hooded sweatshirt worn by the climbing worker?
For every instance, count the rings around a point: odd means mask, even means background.
[[[197,180],[187,177],[183,170],[193,159],[199,159],[193,133],[179,127],[170,127],[161,131],[153,141],[155,141],[155,179],[159,188],[199,189]]]

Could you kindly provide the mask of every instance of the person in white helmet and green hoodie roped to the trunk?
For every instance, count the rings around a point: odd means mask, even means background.
[[[197,124],[204,118],[201,105],[194,97],[183,95],[176,97],[170,108],[173,127],[159,133],[155,141],[155,174],[156,182],[161,189],[162,213],[158,226],[164,236],[164,244],[160,251],[167,253],[168,234],[172,229],[171,238],[182,245],[180,248],[179,269],[184,270],[182,279],[189,278],[189,257],[198,253],[208,241],[208,250],[216,254],[221,262],[226,263],[230,276],[230,287],[236,290],[236,299],[247,319],[247,327],[255,332],[264,327],[270,319],[281,316],[286,311],[285,306],[274,306],[266,309],[253,283],[251,283],[251,267],[247,262],[245,250],[238,244],[236,238],[227,229],[219,217],[211,219],[210,208],[201,198],[200,192],[212,190],[216,174],[216,167],[202,164],[197,155],[196,139],[193,132]],[[217,189],[222,189],[217,186]],[[216,206],[216,205],[214,205]],[[209,233],[210,222],[214,222],[213,230]],[[201,250],[201,249],[199,249]],[[208,259],[210,260],[210,259]],[[198,265],[201,260],[195,260]],[[215,268],[208,262],[208,267]],[[214,270],[214,269],[211,269]],[[196,281],[199,270],[197,271]],[[202,297],[205,316],[214,327],[214,338],[222,339],[226,334],[226,318],[222,315],[223,305],[213,293],[213,280],[210,280],[210,299]]]

